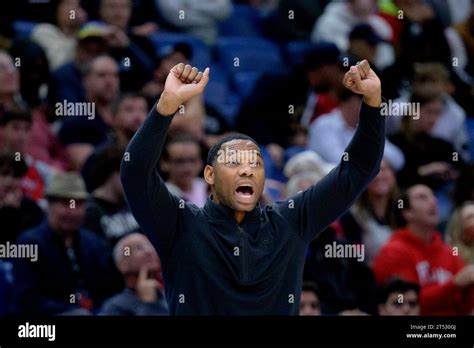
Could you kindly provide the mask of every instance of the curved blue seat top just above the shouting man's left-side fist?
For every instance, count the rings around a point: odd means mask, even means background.
[[[196,38],[193,35],[181,34],[181,33],[165,33],[159,32],[149,36],[155,47],[162,47],[165,45],[172,45],[179,42],[185,42],[191,46],[193,50],[193,56],[191,58],[191,64],[204,69],[211,63],[211,54],[207,45]]]

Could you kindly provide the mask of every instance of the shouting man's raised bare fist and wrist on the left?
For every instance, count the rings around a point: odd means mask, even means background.
[[[173,115],[178,107],[189,99],[201,94],[209,82],[209,68],[204,72],[191,65],[179,63],[174,66],[166,78],[165,89],[156,106],[164,116]]]

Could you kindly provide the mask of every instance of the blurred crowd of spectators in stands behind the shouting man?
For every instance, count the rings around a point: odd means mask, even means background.
[[[16,0],[0,2],[0,316],[167,315],[120,162],[175,64],[210,82],[157,170],[201,207],[230,132],[260,144],[262,205],[347,160],[362,100],[342,77],[362,59],[382,80],[384,160],[311,243],[300,314],[474,314],[474,1]]]

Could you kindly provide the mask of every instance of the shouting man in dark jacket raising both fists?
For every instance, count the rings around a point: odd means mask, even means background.
[[[121,164],[125,195],[154,243],[172,315],[298,315],[306,251],[349,209],[377,175],[385,118],[381,83],[367,61],[351,66],[343,84],[362,94],[349,158],[288,201],[261,207],[265,169],[259,146],[230,134],[209,150],[203,208],[173,196],[157,173],[166,134],[180,105],[201,95],[204,72],[178,64],[156,106],[127,147]]]

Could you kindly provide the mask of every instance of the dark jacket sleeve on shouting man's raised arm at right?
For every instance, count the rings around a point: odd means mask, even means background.
[[[301,237],[310,242],[343,215],[378,174],[385,144],[385,117],[362,103],[359,125],[339,165],[321,181],[281,204]]]

